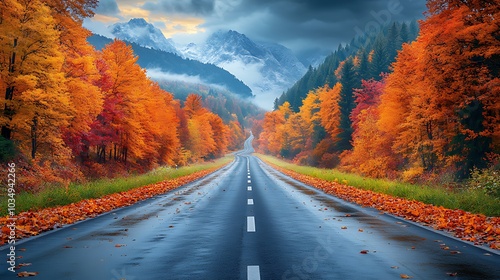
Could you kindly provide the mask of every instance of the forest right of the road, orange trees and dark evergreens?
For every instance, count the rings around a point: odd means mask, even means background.
[[[494,2],[430,0],[419,28],[392,23],[370,40],[339,47],[255,123],[258,150],[409,182],[484,175],[499,196]]]

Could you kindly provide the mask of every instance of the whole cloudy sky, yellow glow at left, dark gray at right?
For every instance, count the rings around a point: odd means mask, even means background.
[[[85,26],[106,27],[144,18],[167,38],[187,44],[232,29],[257,41],[276,42],[297,54],[337,49],[380,23],[422,18],[424,0],[100,0]]]

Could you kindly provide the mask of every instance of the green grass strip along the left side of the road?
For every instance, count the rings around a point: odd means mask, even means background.
[[[214,162],[194,164],[178,169],[161,167],[138,176],[100,179],[85,184],[71,184],[68,188],[48,187],[35,194],[18,193],[15,197],[16,213],[68,205],[84,199],[100,198],[105,195],[180,178],[203,170],[217,169],[231,162],[233,158],[233,156],[226,156]],[[7,196],[0,197],[0,217],[7,215],[7,199]]]

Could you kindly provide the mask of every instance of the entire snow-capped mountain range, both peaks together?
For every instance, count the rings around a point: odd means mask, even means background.
[[[307,71],[304,64],[286,47],[254,42],[232,30],[215,32],[205,42],[198,45],[191,43],[178,49],[160,29],[142,18],[116,23],[109,30],[118,39],[227,70],[248,85],[256,96],[256,103],[266,109],[271,109],[274,98],[290,88]]]

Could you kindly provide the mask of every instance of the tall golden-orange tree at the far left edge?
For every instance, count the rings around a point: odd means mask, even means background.
[[[67,157],[60,128],[74,112],[61,71],[64,55],[56,21],[42,1],[1,5],[2,136],[15,139],[31,158],[42,150]]]

